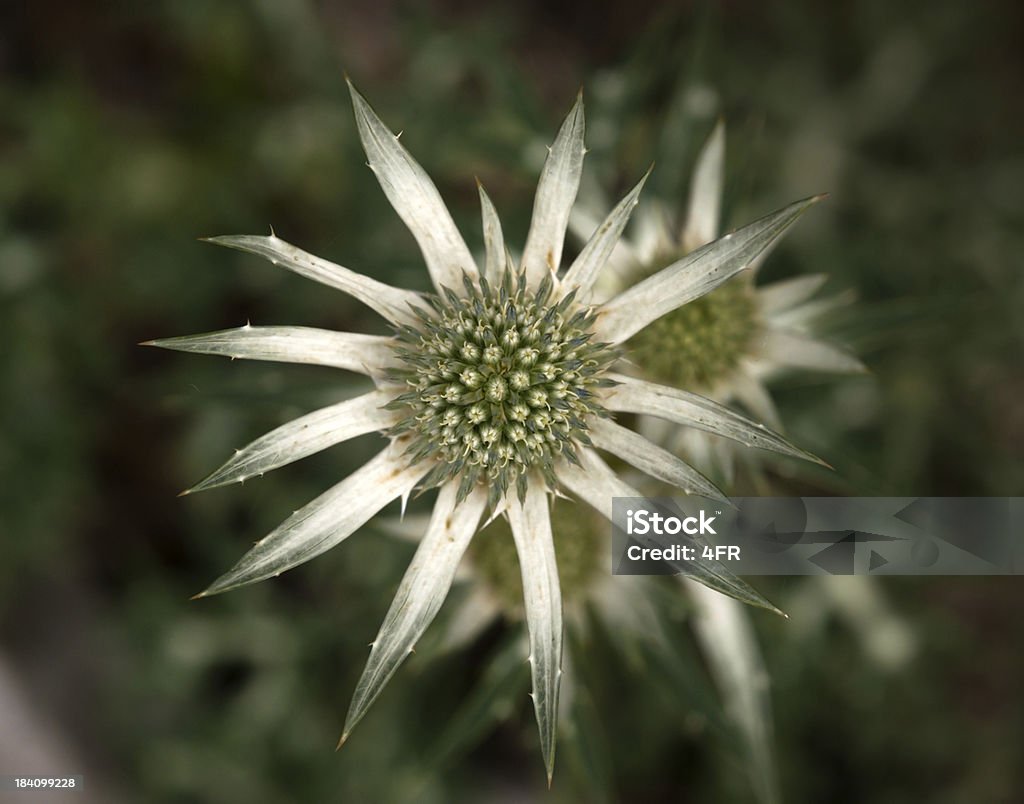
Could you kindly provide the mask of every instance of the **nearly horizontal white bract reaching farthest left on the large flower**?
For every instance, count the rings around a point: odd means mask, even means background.
[[[159,338],[143,346],[220,354],[231,359],[331,366],[371,377],[394,368],[395,340],[382,335],[317,330],[312,327],[252,327]]]

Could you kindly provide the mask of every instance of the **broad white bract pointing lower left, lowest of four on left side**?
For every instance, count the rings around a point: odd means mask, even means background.
[[[429,468],[409,465],[406,443],[393,441],[362,468],[292,514],[256,543],[200,596],[219,594],[298,566],[347,539],[371,516],[408,495]]]

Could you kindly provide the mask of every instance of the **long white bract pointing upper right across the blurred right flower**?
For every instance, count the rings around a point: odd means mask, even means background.
[[[791,204],[687,254],[605,304],[595,324],[599,340],[622,343],[688,301],[736,276],[781,237],[819,197]]]

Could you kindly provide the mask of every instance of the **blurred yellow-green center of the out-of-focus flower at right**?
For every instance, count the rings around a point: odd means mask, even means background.
[[[759,330],[754,290],[739,277],[663,315],[633,336],[628,348],[650,379],[710,389],[751,352]]]

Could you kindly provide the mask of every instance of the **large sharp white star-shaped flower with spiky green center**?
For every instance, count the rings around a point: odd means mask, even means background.
[[[624,341],[748,267],[817,199],[710,243],[609,300],[594,288],[636,206],[643,179],[559,272],[584,158],[577,98],[549,150],[518,265],[483,188],[485,258],[478,267],[433,182],[349,84],[359,137],[385,195],[412,231],[436,295],[401,290],[278,238],[211,242],[252,252],[344,291],[394,328],[390,337],[300,327],[252,327],[150,341],[230,357],[307,363],[370,376],[377,389],[315,411],[238,451],[190,492],[241,482],[369,432],[388,446],[296,511],[200,596],[280,575],[335,547],[389,502],[437,486],[426,532],[356,686],[341,742],[434,619],[484,511],[508,518],[522,576],[532,700],[550,785],[562,657],[562,600],[549,496],[567,492],[610,518],[611,498],[639,496],[599,457],[606,451],[686,492],[721,497],[692,467],[616,424],[646,413],[749,447],[817,459],[693,393],[613,371]],[[726,572],[705,579],[760,600]]]

